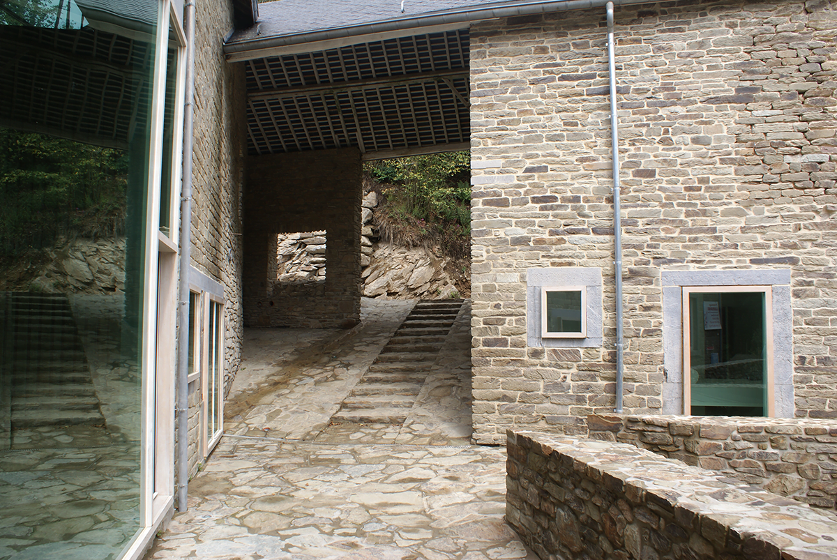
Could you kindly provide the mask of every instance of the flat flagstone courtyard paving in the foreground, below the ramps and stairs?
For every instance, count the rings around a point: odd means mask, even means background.
[[[226,437],[148,558],[530,558],[505,451]]]

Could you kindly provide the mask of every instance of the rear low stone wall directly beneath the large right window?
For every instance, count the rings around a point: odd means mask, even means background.
[[[589,437],[633,444],[812,506],[837,501],[837,421],[588,416]]]

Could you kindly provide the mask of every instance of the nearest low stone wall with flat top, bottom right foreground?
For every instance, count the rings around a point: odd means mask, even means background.
[[[506,521],[547,558],[826,560],[837,519],[629,444],[507,433]]]

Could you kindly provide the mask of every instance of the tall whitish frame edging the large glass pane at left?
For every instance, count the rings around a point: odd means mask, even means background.
[[[169,33],[169,28],[174,30]],[[171,40],[171,43],[170,43]],[[168,47],[177,45],[177,90],[172,126],[171,231],[179,227],[180,172],[182,168],[182,116],[185,85],[186,35],[182,14],[172,0],[159,0],[155,44],[154,84],[151,99],[151,144],[145,236],[143,290],[141,472],[139,530],[119,555],[137,560],[174,504],[174,328],[177,323],[177,239],[160,231],[163,119],[165,112]],[[172,291],[174,290],[174,291]],[[158,309],[158,299],[161,304]]]

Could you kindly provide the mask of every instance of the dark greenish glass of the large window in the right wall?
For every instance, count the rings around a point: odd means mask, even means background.
[[[764,292],[689,295],[691,414],[766,414],[764,298]]]

